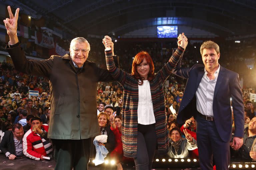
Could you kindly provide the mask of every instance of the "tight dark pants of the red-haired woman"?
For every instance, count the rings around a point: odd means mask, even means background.
[[[155,124],[138,124],[137,157],[134,158],[136,170],[151,170],[156,144]]]

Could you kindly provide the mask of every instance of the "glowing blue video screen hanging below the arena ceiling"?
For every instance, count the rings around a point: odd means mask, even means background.
[[[157,26],[157,38],[177,38],[178,26]]]

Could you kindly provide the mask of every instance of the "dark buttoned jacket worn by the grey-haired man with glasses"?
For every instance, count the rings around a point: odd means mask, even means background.
[[[16,45],[16,44],[15,44]],[[97,116],[98,81],[111,81],[107,70],[86,60],[83,68],[76,70],[69,54],[52,55],[46,60],[26,59],[19,44],[7,45],[16,70],[29,75],[49,78],[51,117],[48,138],[86,139],[99,134]]]

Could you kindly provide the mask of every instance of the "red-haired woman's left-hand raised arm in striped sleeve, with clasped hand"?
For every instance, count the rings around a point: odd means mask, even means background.
[[[115,66],[112,54],[112,51],[114,50],[114,43],[111,41],[110,37],[105,36],[103,44],[106,48],[105,55],[108,71],[115,80],[117,80],[121,85],[124,85],[127,73]]]

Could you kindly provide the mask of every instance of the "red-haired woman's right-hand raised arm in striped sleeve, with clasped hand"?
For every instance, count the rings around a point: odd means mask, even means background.
[[[179,35],[178,48],[172,54],[169,61],[163,66],[163,68],[157,73],[161,75],[162,83],[168,78],[168,76],[172,73],[173,68],[178,63],[180,57],[182,56],[186,46],[188,44],[188,39],[184,34]]]

